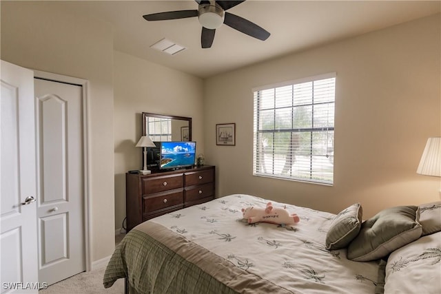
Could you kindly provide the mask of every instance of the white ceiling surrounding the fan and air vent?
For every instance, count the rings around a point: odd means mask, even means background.
[[[145,21],[142,17],[154,12],[197,9],[195,1],[52,3],[110,23],[115,50],[201,78],[441,11],[441,1],[247,0],[228,12],[260,25],[271,36],[260,41],[222,25],[216,30],[212,48],[202,49],[197,17],[167,21]],[[163,38],[187,50],[172,56],[150,48]]]

